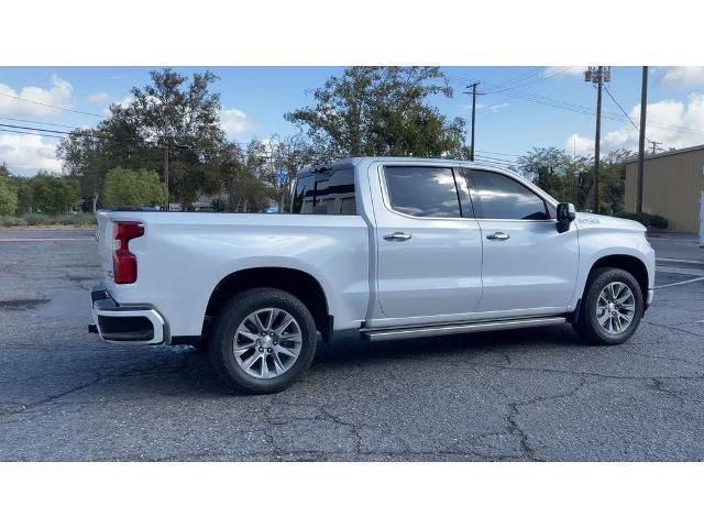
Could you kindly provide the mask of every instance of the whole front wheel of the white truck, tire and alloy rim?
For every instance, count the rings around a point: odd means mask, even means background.
[[[634,334],[642,310],[640,285],[630,273],[616,267],[597,268],[587,282],[574,329],[593,343],[619,344]]]

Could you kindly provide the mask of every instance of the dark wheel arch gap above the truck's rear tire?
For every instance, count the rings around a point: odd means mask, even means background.
[[[208,299],[204,331],[208,321],[232,296],[252,288],[276,288],[297,297],[310,310],[326,342],[332,337],[332,315],[321,284],[309,273],[293,267],[261,266],[239,270],[224,276]]]

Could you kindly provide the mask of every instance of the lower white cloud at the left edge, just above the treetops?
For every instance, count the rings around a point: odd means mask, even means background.
[[[40,168],[59,170],[62,167],[56,160],[56,144],[38,135],[0,134],[1,162],[18,174],[34,174]]]

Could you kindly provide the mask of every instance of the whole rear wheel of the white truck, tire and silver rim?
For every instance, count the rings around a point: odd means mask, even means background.
[[[210,360],[226,383],[248,393],[275,393],[302,374],[316,353],[316,324],[306,306],[273,288],[234,296],[215,321]]]

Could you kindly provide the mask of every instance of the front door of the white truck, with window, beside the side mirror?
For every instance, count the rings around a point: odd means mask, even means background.
[[[518,178],[464,173],[484,243],[479,310],[492,317],[563,312],[576,282],[576,227],[559,233],[551,206]]]

